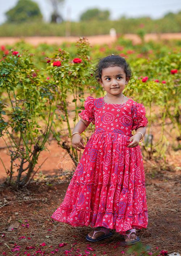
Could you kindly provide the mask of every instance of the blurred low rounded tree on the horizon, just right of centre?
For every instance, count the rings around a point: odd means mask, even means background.
[[[87,20],[109,20],[109,10],[101,11],[98,8],[89,9],[83,12],[80,16],[81,21]]]

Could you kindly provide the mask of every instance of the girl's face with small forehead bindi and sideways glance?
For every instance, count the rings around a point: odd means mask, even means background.
[[[126,77],[125,72],[119,66],[102,69],[100,84],[108,94],[118,95],[122,93],[128,81],[129,77]]]

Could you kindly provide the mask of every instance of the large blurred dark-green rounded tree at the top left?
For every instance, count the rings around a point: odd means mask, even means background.
[[[16,6],[5,13],[7,22],[24,22],[42,20],[42,14],[37,3],[31,0],[18,0]]]

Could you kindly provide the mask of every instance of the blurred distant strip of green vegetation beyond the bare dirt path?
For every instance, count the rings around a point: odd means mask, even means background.
[[[118,35],[137,33],[144,26],[145,33],[180,32],[181,13],[174,14],[173,19],[163,17],[152,20],[149,17],[125,18],[119,20],[92,20],[70,22],[71,36],[92,36],[109,34],[110,28],[115,28]],[[65,36],[66,21],[61,24],[39,22],[25,22],[0,25],[0,36]]]

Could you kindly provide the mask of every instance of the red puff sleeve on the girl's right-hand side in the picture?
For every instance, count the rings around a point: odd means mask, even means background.
[[[138,129],[140,126],[146,127],[148,119],[146,118],[146,109],[143,104],[137,103],[131,109],[132,112],[132,130]]]

